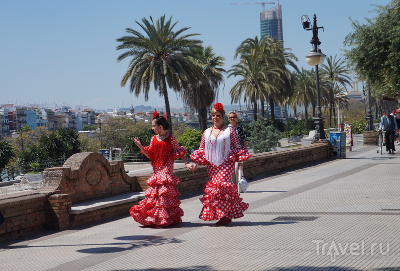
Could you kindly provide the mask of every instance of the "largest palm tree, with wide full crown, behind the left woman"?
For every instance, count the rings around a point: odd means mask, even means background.
[[[155,21],[151,16],[150,21],[142,18],[142,23],[135,22],[144,31],[144,34],[126,28],[125,31],[129,35],[116,39],[117,42],[120,42],[116,46],[116,50],[126,50],[118,56],[117,61],[132,57],[128,69],[122,77],[121,86],[125,86],[130,79],[129,92],[139,96],[143,91],[144,99],[147,101],[152,81],[154,89],[164,97],[169,124],[171,124],[171,114],[167,85],[174,91],[179,91],[195,76],[195,68],[186,56],[190,55],[189,48],[200,48],[202,42],[189,38],[198,34],[182,34],[189,27],[174,31],[173,27],[177,22],[172,23],[171,18],[165,20],[165,14]]]

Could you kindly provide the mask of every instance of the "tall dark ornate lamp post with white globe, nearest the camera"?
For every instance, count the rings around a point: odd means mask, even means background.
[[[325,60],[325,56],[322,52],[321,49],[318,48],[319,44],[321,42],[319,41],[318,38],[318,29],[322,28],[323,31],[323,26],[317,27],[316,26],[316,15],[314,14],[313,16],[313,24],[312,28],[309,28],[310,20],[307,15],[302,15],[301,16],[301,22],[303,25],[303,28],[305,30],[312,30],[312,39],[310,43],[312,44],[312,48],[307,54],[306,61],[308,65],[315,66],[315,80],[316,80],[316,118],[315,118],[315,135],[314,135],[314,140],[325,140],[326,135],[325,132],[323,131],[323,118],[322,112],[321,112],[321,107],[319,104],[319,74],[318,74],[318,65],[322,64],[323,60]]]

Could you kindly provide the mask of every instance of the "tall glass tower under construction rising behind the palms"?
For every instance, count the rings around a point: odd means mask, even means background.
[[[268,35],[283,40],[282,30],[282,6],[277,1],[277,5],[263,10],[259,13],[260,36]]]

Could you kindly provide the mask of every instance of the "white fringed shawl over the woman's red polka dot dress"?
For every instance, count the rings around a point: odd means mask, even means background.
[[[204,133],[204,154],[205,159],[214,165],[219,166],[226,161],[230,155],[230,127],[226,127],[222,134],[217,138],[210,135],[211,128],[205,130]],[[211,144],[211,142],[212,144]],[[215,142],[215,144],[214,144]]]

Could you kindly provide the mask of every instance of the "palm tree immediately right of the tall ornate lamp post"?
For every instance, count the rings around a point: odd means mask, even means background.
[[[333,92],[335,89],[342,89],[345,90],[346,84],[351,84],[350,82],[350,70],[347,69],[346,63],[341,58],[336,60],[336,55],[334,57],[329,56],[326,58],[326,64],[321,65],[321,76],[326,77],[328,80],[328,91],[329,94],[327,95],[328,101],[327,104],[329,106],[329,127],[332,126],[331,123],[331,116],[332,110],[333,115],[335,114],[335,101],[334,101],[334,94]],[[341,88],[344,87],[344,88]]]

